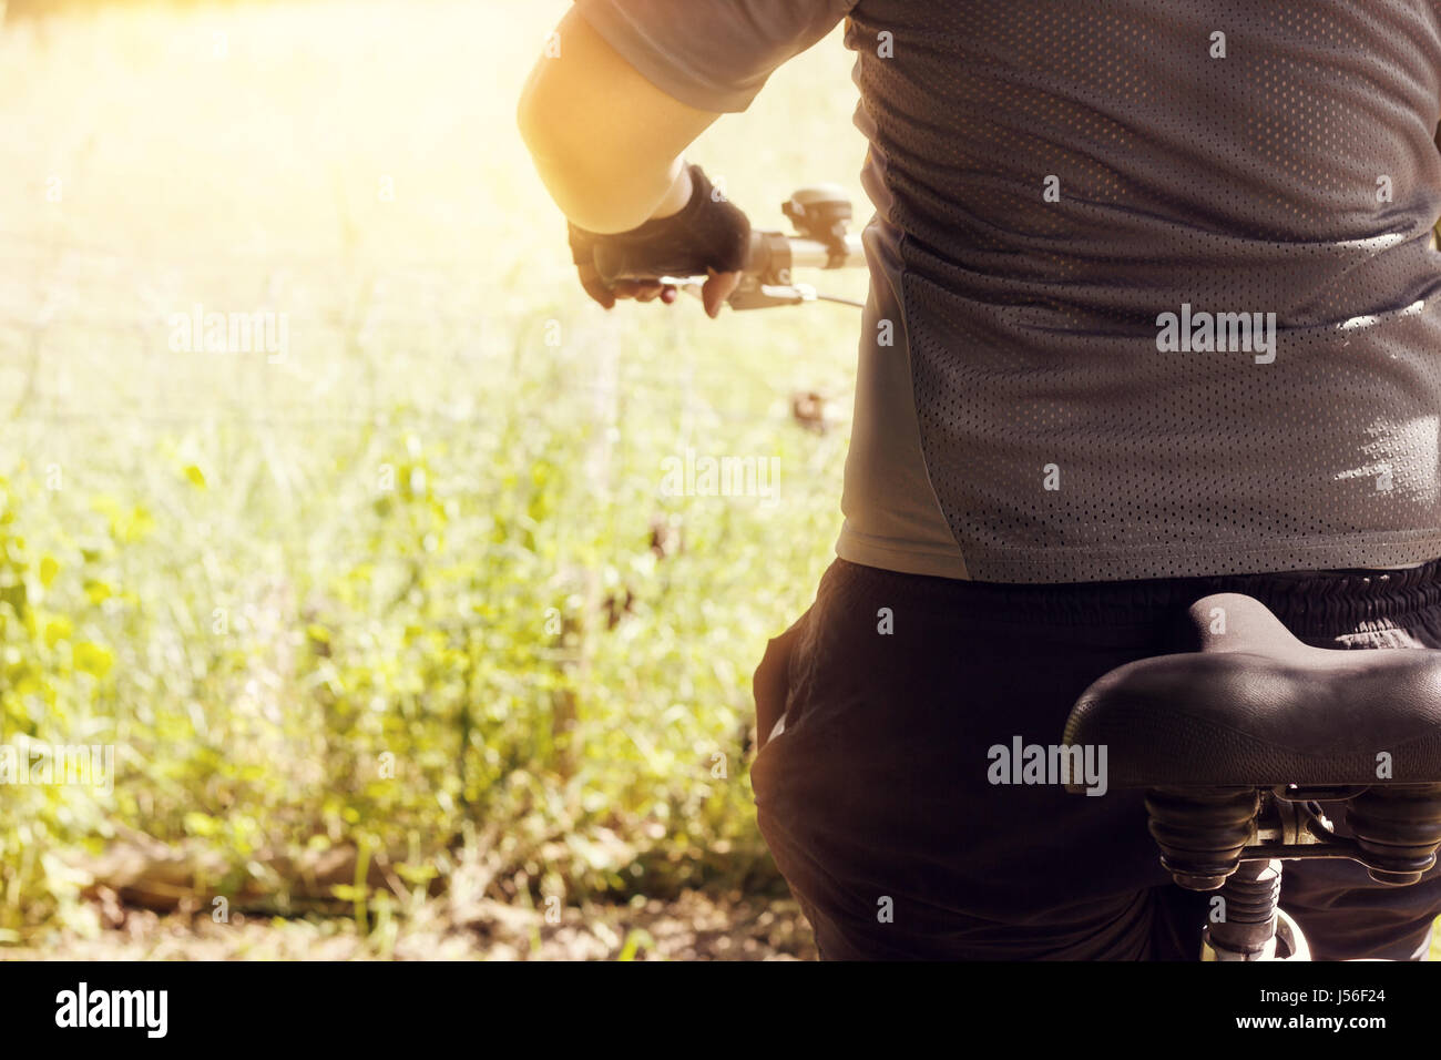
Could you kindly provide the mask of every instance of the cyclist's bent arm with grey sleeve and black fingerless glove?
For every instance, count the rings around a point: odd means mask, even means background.
[[[559,53],[540,59],[522,92],[519,123],[571,218],[581,283],[597,301],[610,309],[617,296],[648,300],[661,288],[607,288],[585,264],[585,241],[670,241],[674,251],[674,239],[696,231],[696,251],[710,265],[706,312],[720,312],[741,274],[716,270],[738,267],[749,225],[729,203],[712,208],[690,193],[682,151],[720,114],[744,111],[775,68],[826,36],[855,3],[576,0],[558,30]],[[690,213],[674,216],[682,209]]]

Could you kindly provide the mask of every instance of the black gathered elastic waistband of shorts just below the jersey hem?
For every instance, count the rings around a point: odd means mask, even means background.
[[[1264,603],[1297,636],[1395,626],[1441,606],[1441,558],[1401,571],[1282,571],[1197,578],[1010,584],[899,574],[836,560],[852,578],[882,575],[888,586],[944,606],[981,609],[999,623],[1147,626],[1212,593],[1245,593]],[[833,568],[834,570],[834,568]]]

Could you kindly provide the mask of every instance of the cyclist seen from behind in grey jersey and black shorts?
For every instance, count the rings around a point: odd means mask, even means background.
[[[520,123],[592,297],[672,296],[605,291],[597,242],[687,247],[719,312],[746,222],[682,153],[842,22],[872,288],[837,558],[755,676],[762,834],[824,958],[1193,959],[1140,793],[996,748],[1213,591],[1441,646],[1441,14],[578,0]],[[1435,871],[1284,887],[1320,959],[1441,911]]]

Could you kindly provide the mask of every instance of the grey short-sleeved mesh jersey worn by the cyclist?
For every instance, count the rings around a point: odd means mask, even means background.
[[[712,111],[846,20],[876,216],[843,558],[1040,583],[1441,555],[1431,0],[578,4]]]

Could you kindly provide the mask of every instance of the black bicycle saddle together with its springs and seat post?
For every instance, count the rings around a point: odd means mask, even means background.
[[[1062,747],[1105,747],[1108,789],[1146,790],[1176,884],[1216,891],[1202,960],[1308,960],[1280,909],[1285,861],[1350,858],[1398,887],[1437,862],[1441,650],[1310,648],[1239,593],[1202,597],[1186,617],[1197,650],[1102,675]],[[1321,802],[1344,805],[1353,835]]]

